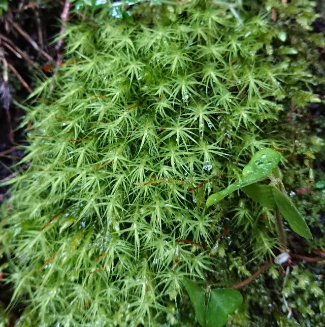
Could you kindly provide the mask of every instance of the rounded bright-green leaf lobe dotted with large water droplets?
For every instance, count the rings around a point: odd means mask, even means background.
[[[243,169],[243,181],[251,181],[252,184],[269,176],[278,165],[280,158],[280,154],[273,149],[257,151]]]

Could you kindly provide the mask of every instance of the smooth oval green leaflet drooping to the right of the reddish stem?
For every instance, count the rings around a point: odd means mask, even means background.
[[[289,223],[293,231],[305,239],[311,239],[312,235],[309,227],[291,200],[275,187],[273,187],[272,191],[281,215]]]

